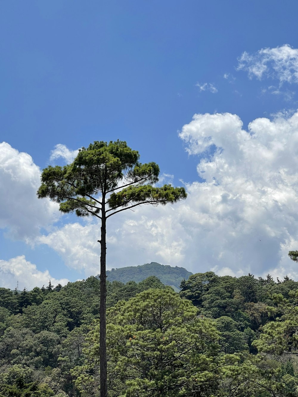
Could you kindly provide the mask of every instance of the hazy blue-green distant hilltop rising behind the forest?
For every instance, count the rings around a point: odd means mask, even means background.
[[[162,283],[170,285],[175,291],[180,289],[180,283],[183,279],[188,279],[192,275],[184,268],[178,266],[172,267],[161,265],[160,263],[151,262],[141,266],[128,266],[126,268],[112,269],[106,271],[108,281],[135,281],[139,283],[149,276],[158,277]]]

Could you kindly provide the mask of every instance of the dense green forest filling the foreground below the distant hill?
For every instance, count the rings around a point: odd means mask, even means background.
[[[100,282],[0,288],[0,396],[99,396]],[[298,396],[298,282],[107,281],[108,395]]]

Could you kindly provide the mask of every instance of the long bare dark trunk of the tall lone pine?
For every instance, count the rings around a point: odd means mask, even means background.
[[[99,365],[101,380],[101,397],[108,397],[108,383],[106,370],[106,216],[101,214],[101,302],[99,308]]]

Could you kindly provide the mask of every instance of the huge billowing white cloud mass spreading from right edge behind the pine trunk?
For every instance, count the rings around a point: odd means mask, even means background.
[[[240,276],[268,272],[298,279],[298,112],[253,120],[196,114],[180,138],[197,156],[203,182],[165,207],[136,207],[107,223],[107,268],[160,262],[192,272]],[[65,263],[99,273],[100,225],[68,224],[41,237]],[[261,240],[261,241],[260,241]]]

